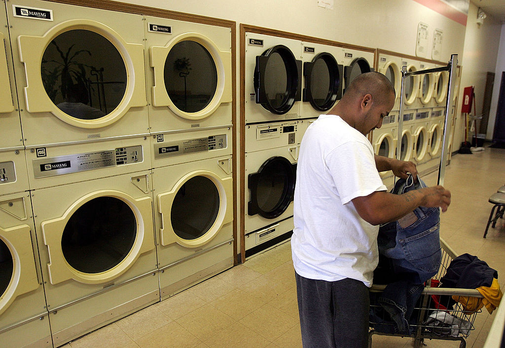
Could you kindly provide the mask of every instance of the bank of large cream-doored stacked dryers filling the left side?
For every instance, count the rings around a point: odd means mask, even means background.
[[[5,4],[3,345],[59,346],[232,267],[231,28]]]

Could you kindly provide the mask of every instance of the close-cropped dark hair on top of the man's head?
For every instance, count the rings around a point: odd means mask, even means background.
[[[391,94],[396,96],[394,86],[385,75],[370,72],[361,74],[352,80],[349,87],[345,89],[342,99],[354,99],[365,94],[371,94],[374,102],[378,104],[388,100]]]

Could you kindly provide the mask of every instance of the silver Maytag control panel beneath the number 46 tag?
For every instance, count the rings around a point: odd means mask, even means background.
[[[142,146],[119,147],[112,150],[34,159],[35,178],[52,177],[78,171],[142,162]]]

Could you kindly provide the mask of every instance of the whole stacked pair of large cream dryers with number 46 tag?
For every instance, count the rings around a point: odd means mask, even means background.
[[[159,301],[141,16],[8,4],[52,337]]]

